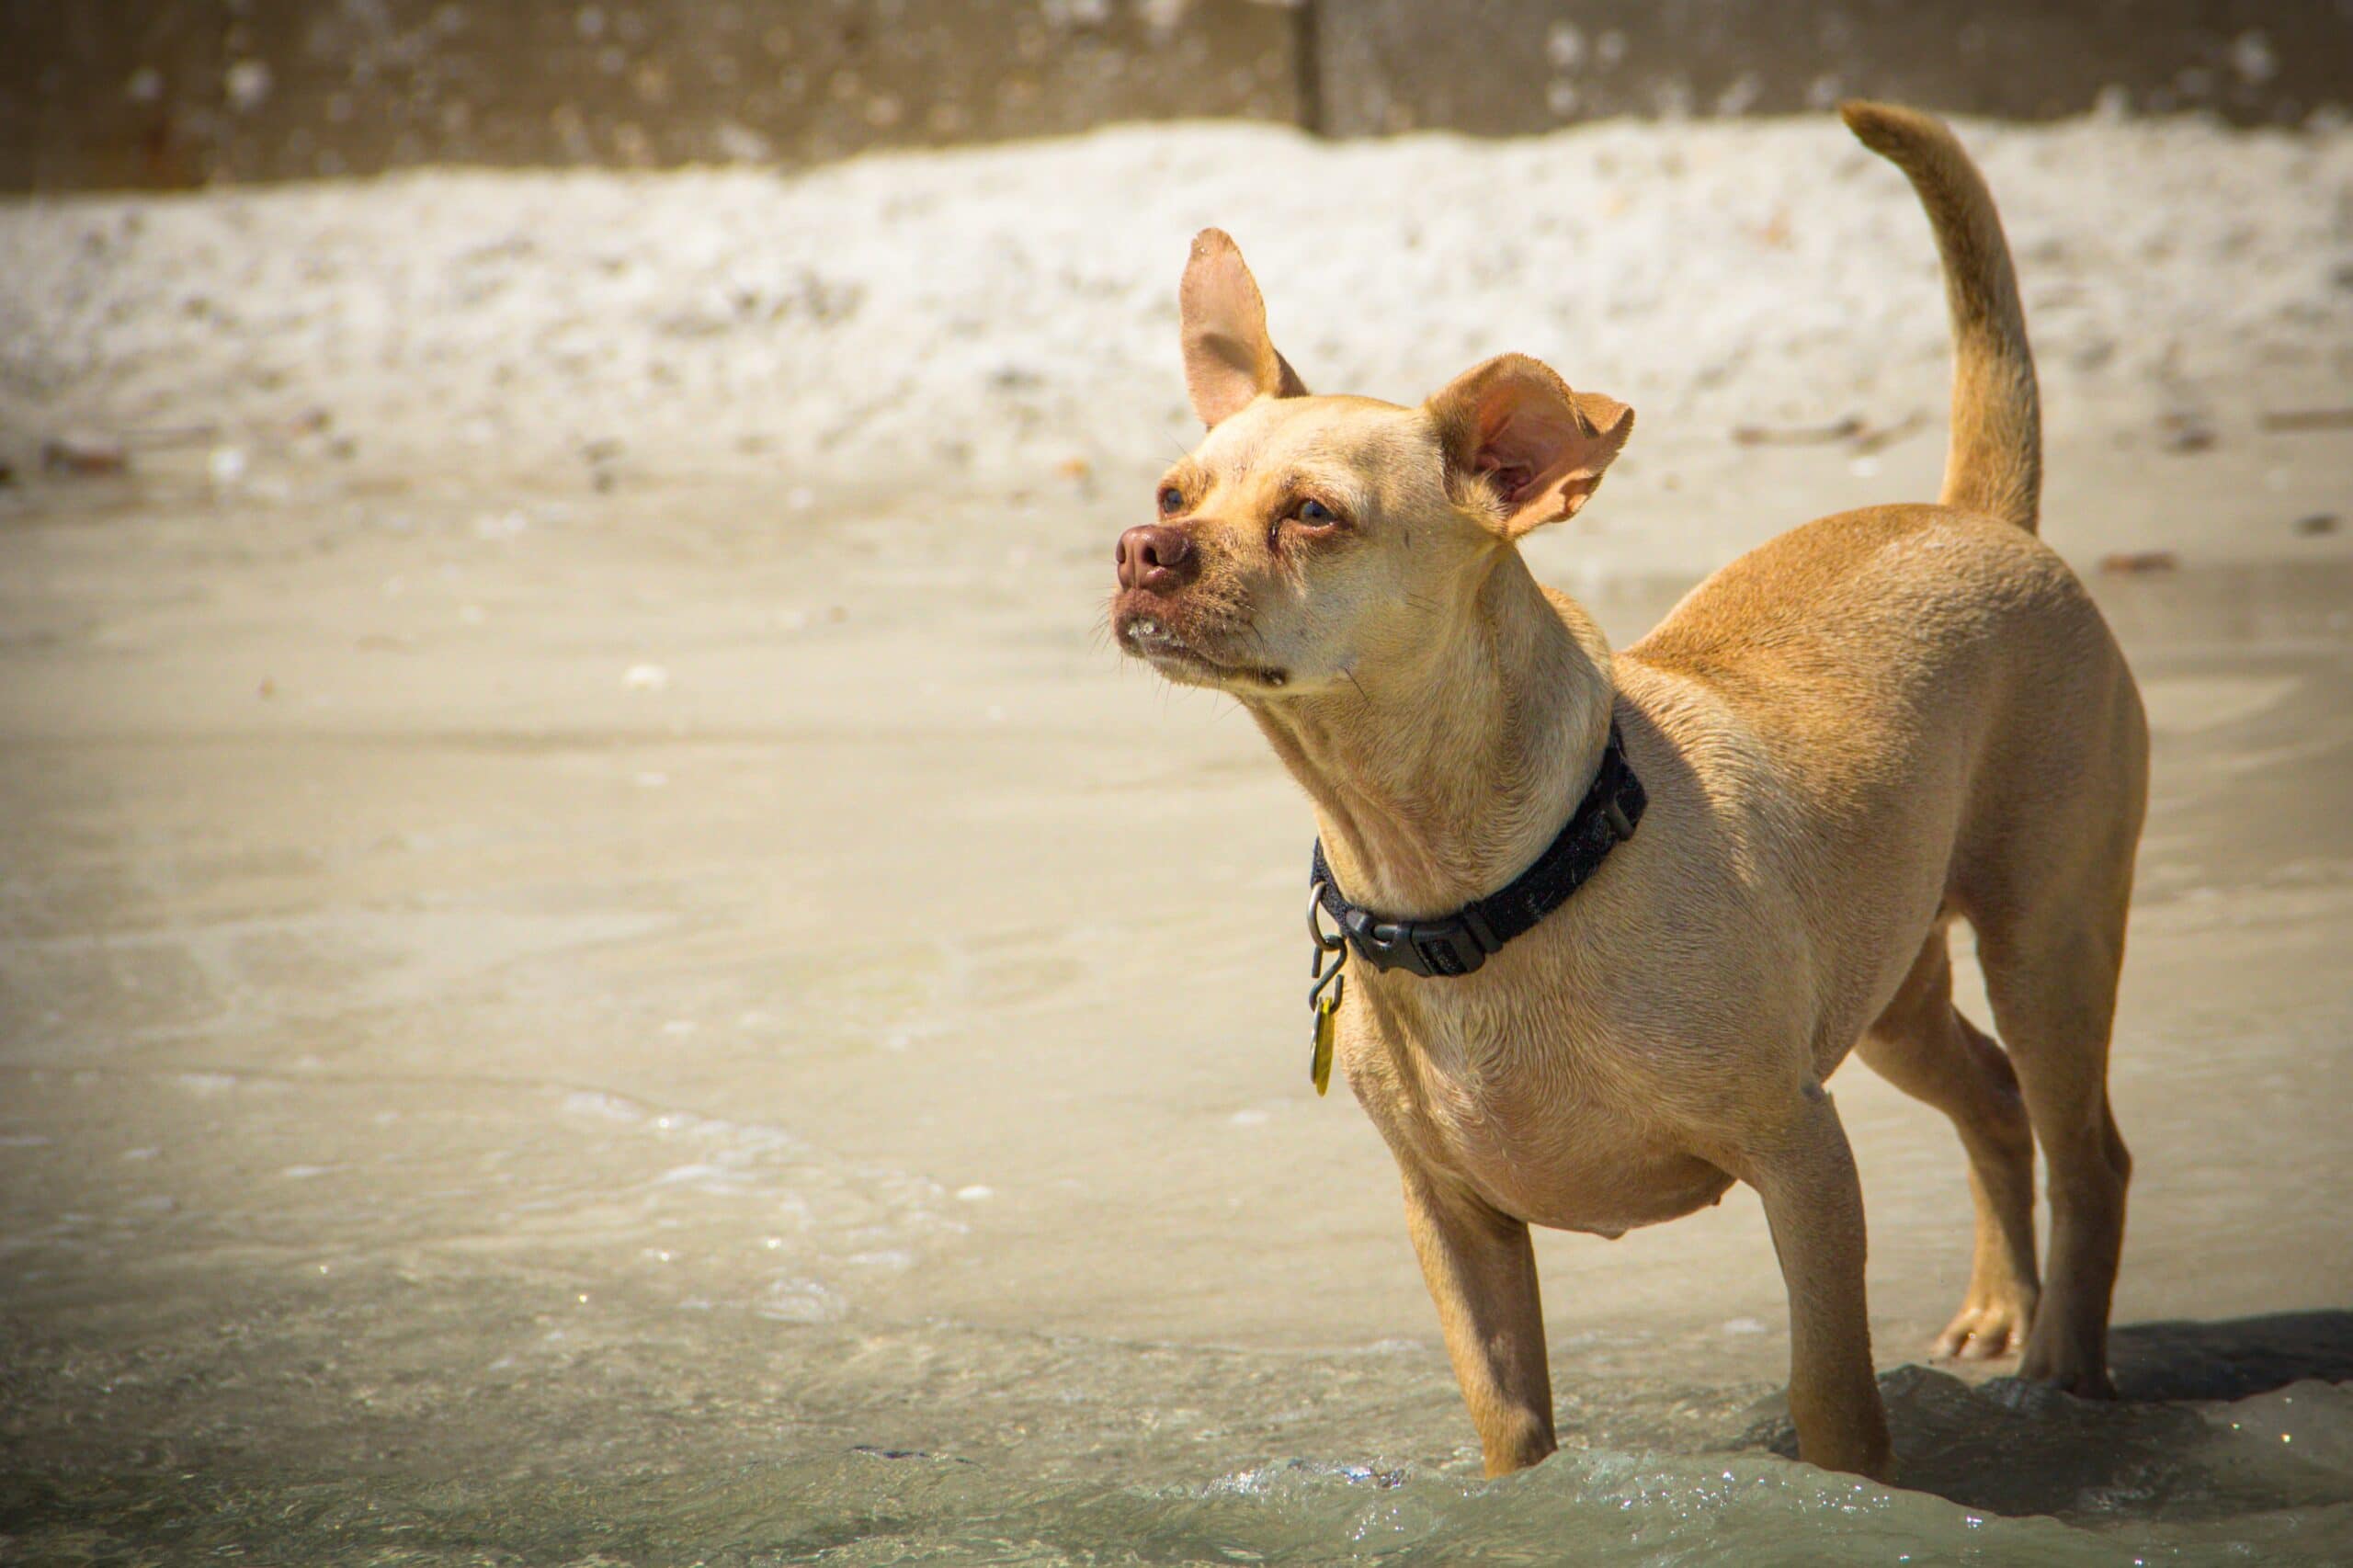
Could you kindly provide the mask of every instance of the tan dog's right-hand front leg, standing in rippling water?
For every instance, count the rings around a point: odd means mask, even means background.
[[[1864,1187],[1838,1109],[1807,1085],[1791,1123],[1746,1151],[1739,1175],[1765,1198],[1788,1283],[1788,1413],[1798,1457],[1885,1481],[1887,1410],[1871,1373],[1864,1304]]]

